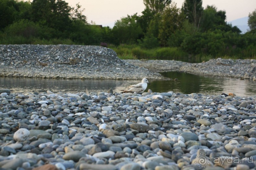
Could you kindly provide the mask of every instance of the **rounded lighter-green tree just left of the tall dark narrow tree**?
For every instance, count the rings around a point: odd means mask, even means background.
[[[181,11],[176,7],[176,4],[172,4],[171,7],[167,7],[161,15],[161,22],[159,25],[159,35],[161,46],[167,46],[168,39],[177,30],[182,27]]]

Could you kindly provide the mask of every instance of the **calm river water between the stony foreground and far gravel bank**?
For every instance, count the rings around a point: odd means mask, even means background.
[[[180,72],[164,72],[163,76],[178,81],[150,81],[148,85],[153,92],[174,93],[200,93],[200,94],[221,94],[229,92],[237,96],[256,96],[256,82],[252,80],[240,80],[234,78],[221,78],[211,76],[197,76]],[[114,92],[121,92],[125,87],[137,84],[138,80],[56,80],[56,79],[35,79],[35,78],[9,78],[0,77],[0,88],[8,88],[11,92],[107,92],[112,88]],[[148,88],[145,90],[148,91]]]

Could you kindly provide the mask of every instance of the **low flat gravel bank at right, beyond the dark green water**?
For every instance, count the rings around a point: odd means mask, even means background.
[[[197,75],[232,77],[256,80],[256,60],[211,59],[203,63],[186,63],[173,60],[126,60],[154,72],[181,71]]]

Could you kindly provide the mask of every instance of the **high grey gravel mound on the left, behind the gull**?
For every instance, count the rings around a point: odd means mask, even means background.
[[[0,45],[0,76],[67,79],[164,79],[100,46]]]

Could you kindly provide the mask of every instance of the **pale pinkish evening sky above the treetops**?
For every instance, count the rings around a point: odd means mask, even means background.
[[[85,9],[87,21],[97,25],[113,27],[115,21],[127,15],[133,15],[145,9],[143,0],[65,0],[69,6],[79,3]],[[184,0],[173,0],[181,8]],[[203,7],[215,5],[218,10],[225,10],[227,22],[243,18],[256,9],[256,0],[203,0]]]

